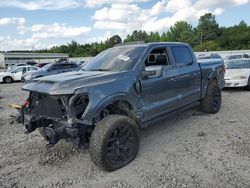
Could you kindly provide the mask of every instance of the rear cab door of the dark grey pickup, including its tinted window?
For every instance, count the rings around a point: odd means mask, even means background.
[[[177,45],[170,48],[178,71],[175,81],[181,96],[180,106],[186,106],[200,100],[201,69],[190,47]]]

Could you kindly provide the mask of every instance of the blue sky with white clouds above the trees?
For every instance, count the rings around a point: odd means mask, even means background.
[[[207,12],[221,26],[250,24],[250,0],[0,0],[0,50],[99,42],[135,29],[162,33],[179,20],[197,25]]]

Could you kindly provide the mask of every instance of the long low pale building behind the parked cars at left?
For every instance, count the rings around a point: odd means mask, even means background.
[[[68,59],[68,54],[62,53],[22,53],[22,52],[2,52],[0,53],[0,68],[19,63],[36,62],[55,62],[59,59]]]

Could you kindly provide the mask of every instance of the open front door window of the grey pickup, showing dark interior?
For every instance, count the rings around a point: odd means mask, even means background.
[[[145,66],[157,66],[157,65],[164,65],[164,66],[169,66],[169,59],[167,52],[164,48],[156,48],[152,50],[146,61],[145,61]]]

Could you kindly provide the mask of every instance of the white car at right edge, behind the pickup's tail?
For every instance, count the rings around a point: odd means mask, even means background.
[[[225,66],[225,87],[244,87],[250,91],[250,59],[229,60]]]

